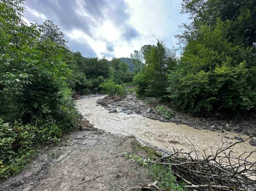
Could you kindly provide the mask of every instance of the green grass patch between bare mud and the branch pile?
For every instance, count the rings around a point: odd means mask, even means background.
[[[153,150],[151,147],[148,146],[142,146],[137,141],[133,142],[135,150],[140,151],[146,151],[147,157],[156,157],[161,156],[161,152],[157,152]],[[129,154],[129,153],[123,153],[124,157],[131,159],[135,162],[137,162],[139,165],[145,167],[147,169],[146,173],[150,174],[150,177],[152,179],[152,182],[158,181],[158,186],[161,189],[172,189],[172,190],[179,190],[179,191],[185,191],[183,189],[183,182],[177,182],[176,177],[173,175],[171,166],[163,166],[158,164],[152,164],[150,163],[153,161],[151,158],[142,158],[135,154]]]

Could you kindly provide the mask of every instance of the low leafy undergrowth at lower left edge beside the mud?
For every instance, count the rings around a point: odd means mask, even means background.
[[[14,124],[0,119],[0,178],[17,174],[34,152],[32,147],[35,126]]]

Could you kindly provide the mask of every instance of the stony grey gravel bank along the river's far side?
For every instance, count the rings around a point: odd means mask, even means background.
[[[194,127],[194,129],[206,129],[210,131],[219,131],[220,133],[224,133],[224,131],[232,131],[245,135],[250,135],[256,129],[255,116],[249,116],[246,120],[236,121],[218,114],[209,118],[198,118],[189,114],[175,112],[175,116],[172,119],[167,120],[156,114],[156,106],[163,103],[158,103],[154,98],[150,98],[150,100],[138,99],[134,93],[128,94],[123,98],[115,96],[106,97],[105,99],[98,100],[98,104],[105,107],[107,110],[116,108],[117,112],[126,114],[137,113],[154,120],[172,122],[177,125],[185,124]],[[256,132],[252,133],[251,136],[256,136]]]

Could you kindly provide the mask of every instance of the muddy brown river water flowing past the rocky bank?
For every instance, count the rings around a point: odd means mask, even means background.
[[[103,107],[96,106],[96,101],[99,98],[104,98],[104,96],[76,100],[77,108],[81,114],[98,129],[111,133],[134,135],[151,145],[166,150],[172,150],[173,146],[190,151],[192,147],[191,141],[197,150],[208,148],[207,153],[209,154],[211,153],[211,148],[214,151],[222,145],[222,136],[219,132],[197,130],[187,125],[176,125],[175,123],[164,123],[142,117],[138,114],[108,113],[109,111]],[[239,137],[234,132],[226,133],[228,133],[226,136],[230,138]],[[244,136],[241,137],[245,138]],[[237,140],[223,137],[223,141],[227,141],[226,145],[229,145],[230,141],[235,142]],[[252,151],[252,146],[248,142],[235,145],[233,148],[234,153],[240,154],[244,151]],[[256,154],[251,156],[252,160],[255,160],[255,158]]]

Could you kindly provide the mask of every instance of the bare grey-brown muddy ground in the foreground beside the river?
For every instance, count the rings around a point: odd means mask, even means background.
[[[134,141],[102,131],[74,132],[60,145],[40,151],[26,170],[1,182],[0,190],[119,191],[142,185],[150,180],[146,170],[123,156],[138,152]]]

